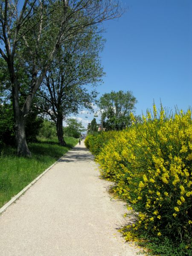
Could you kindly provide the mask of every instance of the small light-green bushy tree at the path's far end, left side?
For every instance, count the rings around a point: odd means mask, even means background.
[[[67,119],[67,127],[64,127],[64,134],[70,137],[79,138],[81,137],[81,133],[86,131],[82,122],[78,122],[77,119],[68,118]]]

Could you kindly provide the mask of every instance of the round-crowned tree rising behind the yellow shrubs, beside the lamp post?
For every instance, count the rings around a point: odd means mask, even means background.
[[[135,110],[136,98],[131,91],[103,94],[97,105],[103,110],[105,130],[122,130],[131,125],[130,113]],[[106,120],[105,120],[106,119]]]

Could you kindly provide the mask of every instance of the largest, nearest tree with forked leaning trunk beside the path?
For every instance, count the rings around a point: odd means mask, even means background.
[[[31,156],[26,143],[26,118],[58,49],[74,35],[83,34],[84,28],[117,16],[119,5],[111,0],[24,0],[23,6],[18,0],[0,0],[0,44],[3,45],[0,54],[7,63],[12,84],[17,154]],[[23,49],[20,56],[26,72],[30,74],[28,94],[22,106],[15,70],[20,49]]]

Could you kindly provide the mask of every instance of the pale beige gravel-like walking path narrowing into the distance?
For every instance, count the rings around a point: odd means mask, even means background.
[[[125,206],[108,185],[77,145],[0,215],[0,256],[137,255],[116,230]]]

